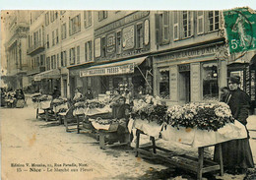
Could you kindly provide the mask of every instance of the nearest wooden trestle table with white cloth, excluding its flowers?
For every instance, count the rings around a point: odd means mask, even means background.
[[[177,167],[190,170],[197,174],[197,179],[202,179],[202,174],[206,172],[220,170],[221,175],[224,175],[224,164],[222,154],[222,143],[233,139],[243,139],[247,137],[245,127],[238,121],[234,124],[226,124],[217,132],[203,131],[197,129],[180,128],[179,130],[171,126],[166,129],[161,126],[150,126],[149,123],[135,123],[136,128],[136,156],[139,152],[155,156],[165,162],[173,164]],[[153,131],[155,130],[155,131]],[[236,132],[236,133],[235,133]],[[140,135],[147,134],[152,142],[151,146],[144,148],[140,147]],[[172,141],[189,145],[198,149],[198,158],[188,155],[177,155],[171,153],[171,150],[166,150],[156,146],[156,138],[161,134],[161,138],[165,141]],[[220,151],[220,161],[214,162],[204,158],[204,150],[214,146]],[[157,151],[158,150],[158,151]],[[160,153],[159,153],[160,152]],[[162,153],[164,152],[164,153]]]

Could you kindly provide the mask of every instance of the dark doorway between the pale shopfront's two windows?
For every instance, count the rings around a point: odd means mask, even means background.
[[[179,73],[179,101],[190,102],[190,71]]]

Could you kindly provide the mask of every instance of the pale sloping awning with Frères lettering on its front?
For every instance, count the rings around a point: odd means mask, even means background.
[[[131,74],[134,73],[134,68],[142,64],[146,58],[147,57],[140,57],[114,63],[92,66],[90,68],[87,68],[86,70],[80,71],[80,77]]]

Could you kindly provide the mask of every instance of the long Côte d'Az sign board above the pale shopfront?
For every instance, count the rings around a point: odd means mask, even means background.
[[[169,60],[178,60],[183,58],[191,58],[191,57],[198,57],[203,55],[214,55],[218,50],[217,46],[210,46],[205,48],[196,48],[196,49],[189,49],[179,52],[173,52],[166,55],[161,55],[158,58],[158,61],[169,61]]]

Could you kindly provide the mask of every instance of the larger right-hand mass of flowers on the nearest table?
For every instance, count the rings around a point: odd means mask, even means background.
[[[198,128],[217,131],[233,123],[229,106],[224,102],[188,103],[167,109],[167,124],[172,127]]]

